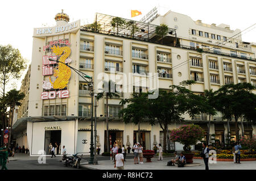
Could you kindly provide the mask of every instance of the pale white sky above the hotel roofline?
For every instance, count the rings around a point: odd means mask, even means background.
[[[2,1],[0,45],[11,44],[31,62],[34,28],[55,26],[54,17],[61,9],[69,15],[69,22],[80,19],[81,24],[87,24],[94,21],[96,12],[139,20],[155,6],[160,6],[166,11],[188,15],[193,20],[200,19],[203,23],[217,25],[224,23],[230,25],[230,30],[238,28],[242,31],[256,23],[255,5],[255,0]],[[142,15],[131,18],[131,10],[141,11]],[[256,43],[256,28],[242,35],[242,40]],[[24,78],[24,74],[19,82]],[[20,83],[15,86],[19,89]]]

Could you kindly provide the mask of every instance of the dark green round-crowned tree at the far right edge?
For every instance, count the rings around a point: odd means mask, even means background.
[[[238,141],[238,118],[245,116],[250,118],[256,115],[256,95],[251,93],[255,89],[250,83],[238,83],[236,85],[224,85],[214,95],[214,105],[223,115],[224,119],[231,120],[234,117],[236,123],[236,140]]]

